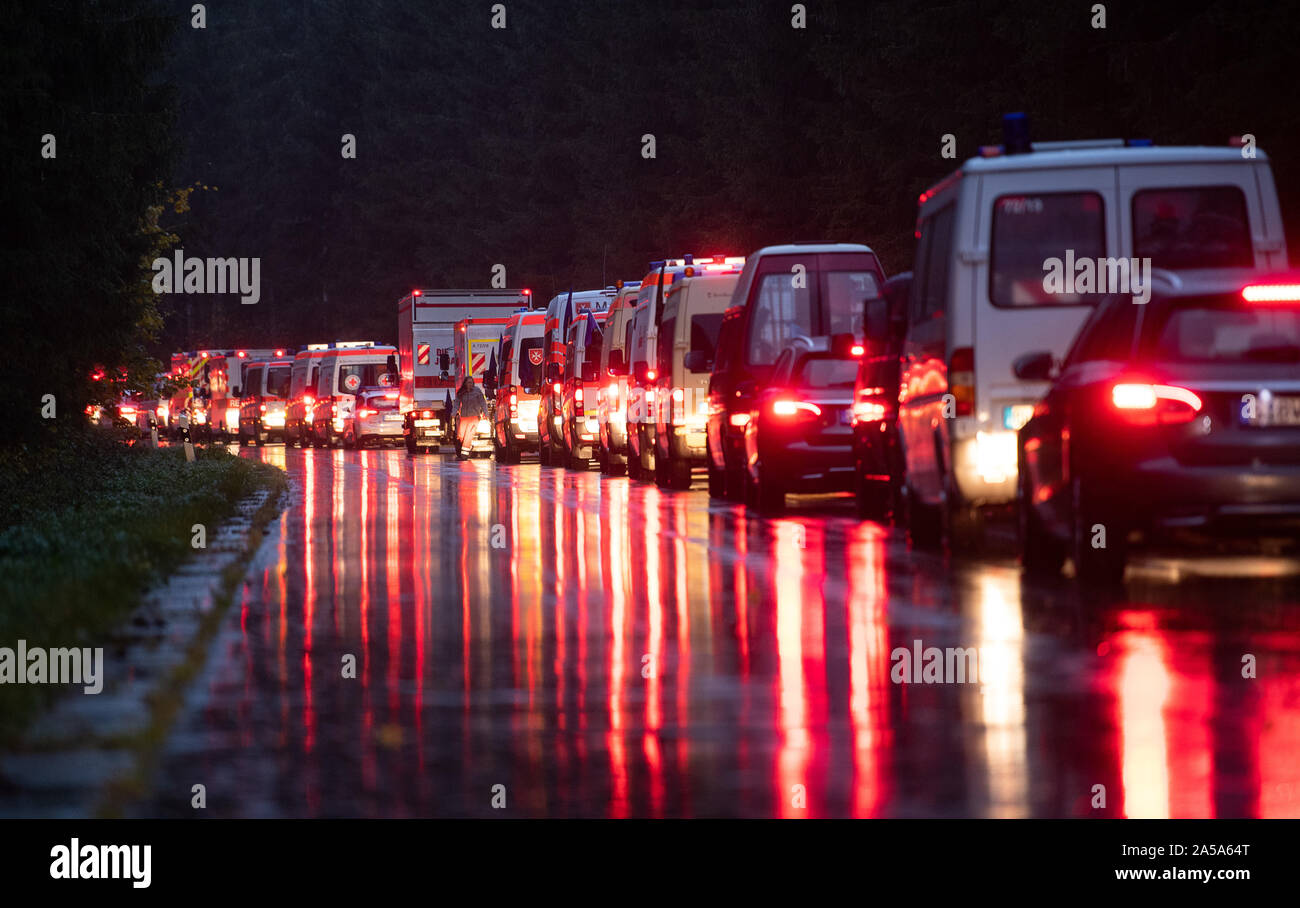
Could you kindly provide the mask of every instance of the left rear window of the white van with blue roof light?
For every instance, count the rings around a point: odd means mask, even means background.
[[[993,200],[988,297],[994,306],[1078,306],[1100,299],[1048,293],[1048,261],[1100,259],[1106,254],[1105,203],[1096,193],[1000,195]]]

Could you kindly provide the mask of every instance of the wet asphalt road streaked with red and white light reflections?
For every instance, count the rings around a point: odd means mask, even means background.
[[[844,500],[243,455],[292,501],[133,813],[202,783],[207,816],[1300,816],[1291,562],[1148,559],[1095,602]],[[914,645],[979,682],[896,683]]]

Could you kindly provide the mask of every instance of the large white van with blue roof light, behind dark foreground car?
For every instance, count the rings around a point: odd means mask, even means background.
[[[1030,142],[1023,114],[920,195],[898,393],[915,541],[978,540],[1017,493],[1015,432],[1046,393],[1013,363],[1065,355],[1093,306],[1153,269],[1286,267],[1269,159],[1228,146]],[[1060,280],[1065,273],[1065,280]]]

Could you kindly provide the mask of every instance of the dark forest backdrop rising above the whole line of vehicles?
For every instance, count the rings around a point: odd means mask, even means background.
[[[784,1],[491,5],[6,4],[0,342],[75,395],[140,351],[391,341],[410,287],[497,263],[541,300],[790,239],[902,271],[916,195],[1009,111],[1037,139],[1252,133],[1300,242],[1291,3],[1108,3],[1104,30],[1072,0],[811,0],[802,30]],[[173,237],[259,256],[261,302],[140,298]]]

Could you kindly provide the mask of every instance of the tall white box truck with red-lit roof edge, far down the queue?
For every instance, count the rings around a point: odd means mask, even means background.
[[[458,368],[474,369],[478,353],[468,329],[464,355],[456,356],[456,327],[472,320],[482,324],[500,319],[493,341],[500,337],[504,320],[520,308],[530,308],[532,290],[412,290],[398,300],[398,356],[400,379],[398,405],[407,451],[438,447],[450,431],[447,405],[456,393]],[[482,353],[489,346],[481,347]],[[476,377],[488,367],[485,359]]]

